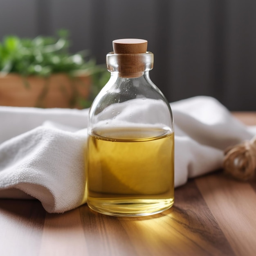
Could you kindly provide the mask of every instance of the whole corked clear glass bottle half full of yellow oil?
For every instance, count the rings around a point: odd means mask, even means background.
[[[112,216],[144,216],[174,202],[170,105],[149,78],[147,41],[113,41],[110,80],[89,112],[86,190],[89,207]]]

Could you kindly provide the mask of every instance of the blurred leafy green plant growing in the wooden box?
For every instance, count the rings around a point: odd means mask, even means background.
[[[74,76],[82,72],[91,75],[92,90],[89,99],[79,99],[81,107],[89,107],[110,74],[106,72],[106,67],[96,65],[88,50],[70,54],[68,36],[67,30],[60,30],[58,38],[4,37],[0,42],[1,74],[17,73],[24,77],[34,75],[45,78],[55,73]],[[26,83],[25,85],[29,87]]]

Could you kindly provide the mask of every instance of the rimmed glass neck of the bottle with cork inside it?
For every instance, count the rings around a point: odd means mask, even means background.
[[[107,54],[108,71],[119,77],[137,78],[148,74],[153,69],[154,55],[151,52],[143,54]]]

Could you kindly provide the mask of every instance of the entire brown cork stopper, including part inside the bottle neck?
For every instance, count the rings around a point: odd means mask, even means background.
[[[144,39],[126,38],[113,41],[114,54],[120,54],[118,58],[119,76],[139,77],[145,69],[144,58],[148,41]]]

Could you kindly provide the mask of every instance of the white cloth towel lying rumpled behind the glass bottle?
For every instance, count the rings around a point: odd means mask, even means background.
[[[223,150],[256,134],[216,99],[171,103],[175,187],[221,168]],[[88,109],[0,107],[0,198],[37,198],[60,213],[86,202],[84,149]]]

